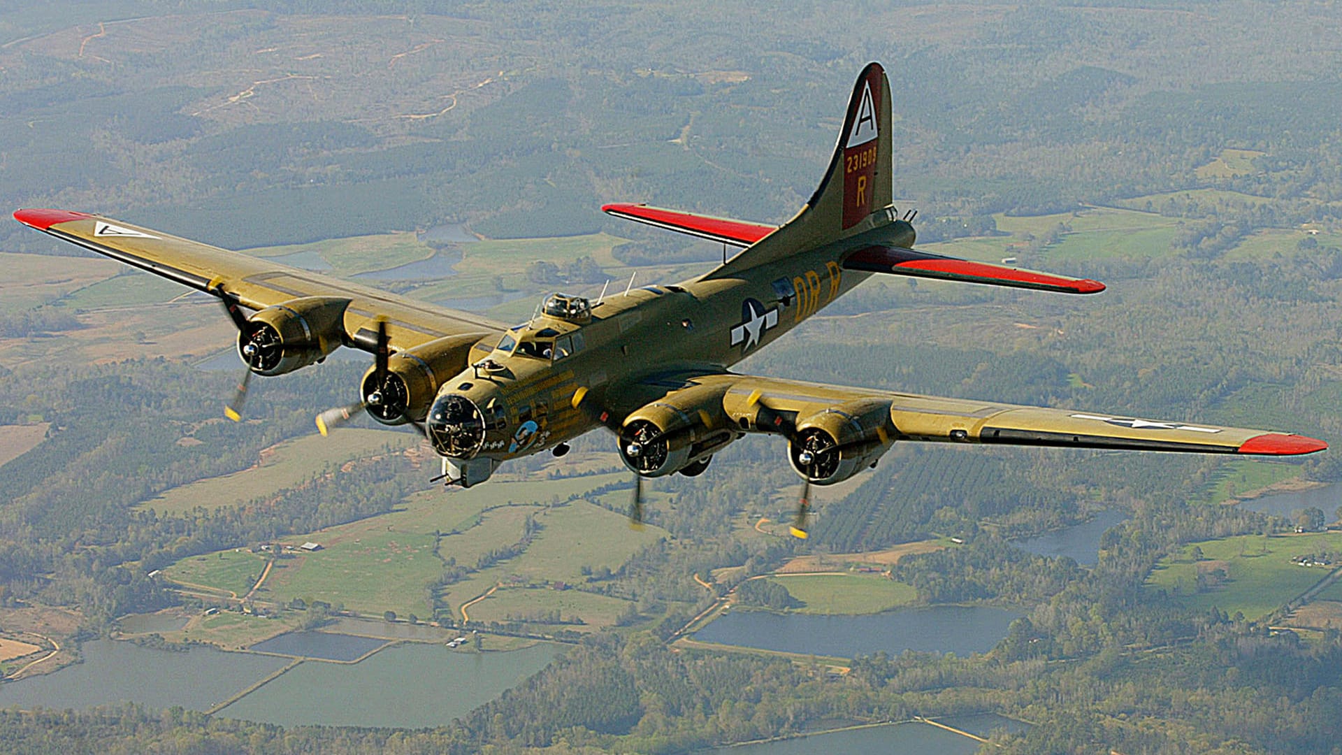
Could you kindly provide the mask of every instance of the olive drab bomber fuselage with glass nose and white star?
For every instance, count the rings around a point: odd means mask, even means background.
[[[902,246],[914,236],[902,220],[872,234]],[[479,477],[505,459],[599,426],[617,431],[629,412],[663,396],[676,380],[722,372],[866,279],[867,273],[836,262],[864,243],[858,235],[739,277],[635,287],[596,302],[584,322],[539,313],[482,340],[471,352],[472,367],[444,383],[427,418],[431,441],[450,459],[490,459],[476,468]],[[483,429],[455,447],[435,431],[452,396],[478,407]]]

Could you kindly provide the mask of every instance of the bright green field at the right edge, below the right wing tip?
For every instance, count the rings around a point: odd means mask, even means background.
[[[1202,549],[1201,564],[1193,562],[1194,547]],[[1329,570],[1298,567],[1291,563],[1292,556],[1319,551],[1342,551],[1342,533],[1272,537],[1244,535],[1189,543],[1177,558],[1161,559],[1146,579],[1146,584],[1149,588],[1168,590],[1172,595],[1177,595],[1185,607],[1197,611],[1216,606],[1231,615],[1240,611],[1249,619],[1257,619],[1327,576]],[[1216,567],[1227,570],[1229,580],[1197,592],[1198,568]]]

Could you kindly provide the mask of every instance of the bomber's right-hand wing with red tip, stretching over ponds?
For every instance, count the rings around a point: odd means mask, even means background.
[[[804,426],[807,418],[829,412],[839,415],[832,418],[829,426],[868,434],[866,439],[835,438],[839,446],[862,442],[886,445],[903,439],[1266,455],[1311,454],[1327,449],[1326,442],[1304,435],[1200,422],[1165,422],[747,375],[710,375],[694,380],[719,386],[723,382],[727,384],[723,410],[742,427],[786,434],[789,427]]]

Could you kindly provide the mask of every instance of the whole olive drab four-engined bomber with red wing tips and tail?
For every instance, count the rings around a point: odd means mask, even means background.
[[[786,438],[788,461],[805,481],[792,527],[798,537],[807,536],[812,484],[874,466],[896,441],[1270,455],[1327,447],[1287,433],[731,372],[874,274],[1068,294],[1104,289],[915,250],[915,214],[892,206],[890,112],[890,82],[870,63],[820,188],[780,227],[608,204],[611,215],[743,251],[675,285],[632,287],[631,279],[596,301],[552,294],[511,328],[99,215],[19,210],[15,218],[219,297],[238,326],[247,378],[290,372],[340,347],[372,352],[360,400],[318,416],[318,427],[325,434],[357,411],[384,425],[412,423],[443,457],[446,484],[478,485],[510,458],[561,455],[573,438],[605,427],[636,474],[635,521],[643,478],[696,476],[714,454],[756,433]],[[227,408],[234,419],[246,386]]]

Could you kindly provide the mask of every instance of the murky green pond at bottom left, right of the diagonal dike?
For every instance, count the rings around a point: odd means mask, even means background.
[[[544,669],[560,652],[556,645],[470,653],[405,643],[353,665],[306,661],[219,715],[279,725],[442,725]]]

